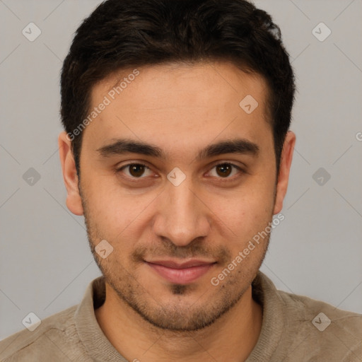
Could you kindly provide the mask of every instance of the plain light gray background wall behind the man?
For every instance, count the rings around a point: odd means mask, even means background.
[[[57,153],[62,60],[99,2],[0,0],[0,339],[29,312],[42,319],[78,303],[100,275],[83,218],[66,209]],[[285,220],[262,271],[285,291],[362,313],[362,2],[255,4],[280,25],[298,83]],[[33,42],[22,34],[30,22],[42,31]],[[332,30],[323,42],[312,33],[320,22]]]

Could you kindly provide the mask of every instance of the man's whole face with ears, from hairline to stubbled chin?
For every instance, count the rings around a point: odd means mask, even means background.
[[[119,303],[157,327],[195,330],[250,288],[269,235],[243,250],[279,213],[290,160],[277,183],[260,76],[227,63],[138,71],[93,88],[92,109],[110,103],[83,131],[80,192],[63,135],[67,205],[84,214]],[[127,86],[113,94],[124,77]],[[239,105],[247,95],[258,103],[251,113]],[[101,240],[103,256],[113,248],[104,259],[95,252]]]

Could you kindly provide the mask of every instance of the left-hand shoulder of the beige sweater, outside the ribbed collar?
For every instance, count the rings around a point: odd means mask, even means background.
[[[0,360],[11,361],[66,361],[73,360],[79,349],[74,322],[77,305],[45,318],[30,332],[24,329],[0,341]],[[77,360],[80,361],[80,360]]]

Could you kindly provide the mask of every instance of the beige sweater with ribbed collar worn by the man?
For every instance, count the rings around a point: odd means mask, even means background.
[[[262,305],[263,322],[247,362],[362,361],[362,315],[277,291],[260,271],[252,291]],[[99,277],[79,305],[47,317],[33,332],[25,329],[0,341],[0,361],[126,362],[95,319],[94,308],[104,300],[104,279]]]

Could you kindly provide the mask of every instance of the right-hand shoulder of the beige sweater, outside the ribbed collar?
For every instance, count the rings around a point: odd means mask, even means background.
[[[362,315],[307,296],[276,293],[284,306],[286,326],[299,337],[296,350],[308,356],[319,351],[318,361],[325,361],[329,354],[330,361],[361,361]]]

